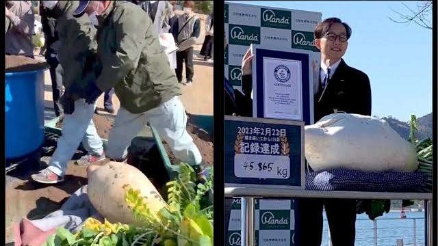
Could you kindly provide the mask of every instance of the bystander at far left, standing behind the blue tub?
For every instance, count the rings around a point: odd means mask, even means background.
[[[34,10],[26,1],[5,1],[6,55],[24,55],[34,58]]]

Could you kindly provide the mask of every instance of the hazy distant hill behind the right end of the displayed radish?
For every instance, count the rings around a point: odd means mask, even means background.
[[[408,122],[402,122],[391,116],[383,117],[394,130],[400,134],[404,139],[409,139],[409,124]],[[417,139],[424,139],[430,137],[432,139],[432,113],[417,118]]]

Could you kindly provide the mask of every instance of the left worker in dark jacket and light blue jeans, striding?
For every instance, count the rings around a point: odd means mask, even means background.
[[[64,108],[62,135],[49,167],[31,175],[36,182],[56,184],[64,180],[67,163],[77,146],[82,145],[88,154],[77,160],[77,165],[88,165],[105,159],[103,143],[92,121],[96,99],[102,92],[92,90],[94,80],[101,71],[96,56],[96,28],[88,16],[73,17],[78,1],[41,1],[45,14],[56,20],[60,41],[58,58],[63,68],[65,92],[61,102]],[[91,89],[90,89],[91,88]],[[90,99],[92,94],[92,100]]]

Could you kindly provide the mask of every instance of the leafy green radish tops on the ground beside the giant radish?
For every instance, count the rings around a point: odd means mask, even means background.
[[[194,169],[181,163],[179,175],[167,186],[168,206],[158,213],[149,210],[140,191],[124,186],[125,201],[141,227],[88,218],[76,234],[58,228],[44,246],[213,245],[213,205],[205,200],[213,189],[213,176],[196,184]]]

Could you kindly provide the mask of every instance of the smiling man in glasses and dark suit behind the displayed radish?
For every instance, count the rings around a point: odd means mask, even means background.
[[[314,94],[315,122],[337,111],[371,115],[367,74],[342,59],[351,36],[350,27],[339,18],[328,18],[318,24],[314,36],[315,46],[321,51],[320,83]],[[323,206],[333,246],[355,245],[356,200],[322,198],[299,200],[301,245],[321,245]]]

